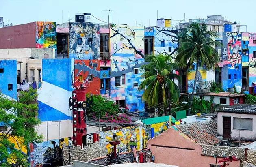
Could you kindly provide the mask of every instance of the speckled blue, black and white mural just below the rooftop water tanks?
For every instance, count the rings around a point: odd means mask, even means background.
[[[99,24],[69,23],[69,58],[95,60],[99,55]]]

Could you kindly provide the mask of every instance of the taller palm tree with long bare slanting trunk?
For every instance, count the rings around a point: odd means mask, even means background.
[[[204,23],[192,23],[187,30],[180,34],[176,62],[178,62],[179,67],[187,69],[191,69],[193,65],[196,65],[188,115],[190,115],[195,85],[198,80],[198,70],[201,69],[204,73],[214,70],[217,62],[219,62],[218,53],[214,47],[215,45],[222,46],[222,44],[214,40],[217,37],[218,33],[207,31],[207,26]]]

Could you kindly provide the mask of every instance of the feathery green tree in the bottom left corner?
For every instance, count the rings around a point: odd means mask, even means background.
[[[0,124],[7,131],[0,131],[0,166],[11,166],[12,162],[20,166],[28,166],[27,154],[22,147],[29,151],[30,142],[41,142],[42,136],[37,135],[34,127],[40,124],[37,119],[37,90],[30,88],[28,92],[20,92],[19,101],[9,100],[0,96]],[[20,138],[19,148],[15,148],[10,139]]]

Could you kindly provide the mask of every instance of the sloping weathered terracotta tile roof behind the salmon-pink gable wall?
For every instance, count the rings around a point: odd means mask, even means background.
[[[217,136],[217,123],[213,122],[212,119],[176,125],[174,128],[187,135],[195,143],[215,145],[219,142],[215,137]]]

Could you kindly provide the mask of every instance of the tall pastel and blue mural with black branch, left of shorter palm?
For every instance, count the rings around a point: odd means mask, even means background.
[[[111,98],[126,101],[129,111],[142,111],[142,91],[138,86],[143,81],[139,67],[144,62],[144,28],[115,26],[110,30]]]

